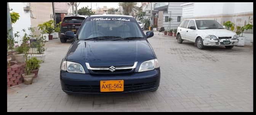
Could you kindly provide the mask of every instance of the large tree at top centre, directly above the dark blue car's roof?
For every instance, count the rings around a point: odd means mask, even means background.
[[[121,2],[118,3],[119,6],[123,7],[123,14],[124,15],[130,15],[132,12],[134,12],[138,7],[136,6],[136,2]]]

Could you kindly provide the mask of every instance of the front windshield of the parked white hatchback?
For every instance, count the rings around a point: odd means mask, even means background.
[[[200,29],[224,29],[217,21],[215,20],[196,20],[197,28]]]

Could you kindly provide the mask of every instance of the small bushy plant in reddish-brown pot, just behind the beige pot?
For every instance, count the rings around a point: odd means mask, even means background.
[[[34,78],[36,78],[39,68],[40,68],[39,64],[41,63],[41,61],[38,60],[37,57],[32,57],[31,59],[29,59],[29,62],[31,64],[31,68],[32,68],[31,73],[34,73],[35,74]]]

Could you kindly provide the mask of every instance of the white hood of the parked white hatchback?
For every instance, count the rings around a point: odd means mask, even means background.
[[[226,29],[206,29],[206,30],[201,30],[203,33],[206,33],[208,35],[214,35],[216,37],[229,37],[235,35],[234,32],[226,30]]]

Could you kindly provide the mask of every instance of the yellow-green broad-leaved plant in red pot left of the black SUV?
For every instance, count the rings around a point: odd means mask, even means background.
[[[48,22],[44,22],[43,24],[38,24],[38,30],[42,30],[43,33],[48,33],[49,40],[53,39],[53,35],[51,33],[54,32],[54,20],[50,20]]]

